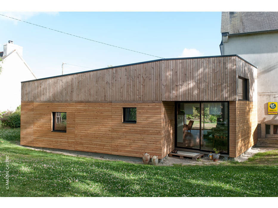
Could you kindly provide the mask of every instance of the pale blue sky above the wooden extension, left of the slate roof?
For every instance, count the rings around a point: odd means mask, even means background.
[[[0,12],[24,21],[163,58],[220,55],[221,12]],[[0,51],[13,40],[38,78],[62,62],[92,68],[158,59],[1,17]],[[189,50],[191,49],[191,50]],[[64,74],[89,70],[70,65]]]

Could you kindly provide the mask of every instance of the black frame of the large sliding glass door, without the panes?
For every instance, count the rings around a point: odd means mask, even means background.
[[[179,147],[177,145],[178,143],[178,138],[177,138],[177,133],[178,133],[178,128],[177,128],[177,120],[178,120],[178,103],[199,103],[200,104],[200,133],[199,133],[199,149],[195,149],[195,148],[190,148],[190,147]],[[228,103],[228,138],[227,138],[227,152],[219,152],[220,154],[223,154],[223,155],[229,155],[229,143],[230,143],[230,103],[229,101],[175,101],[175,148],[181,148],[181,149],[192,149],[192,150],[197,150],[197,151],[202,151],[202,152],[212,152],[212,151],[209,151],[209,150],[204,150],[204,149],[201,149],[201,131],[202,131],[202,122],[201,122],[201,119],[202,119],[202,108],[201,108],[201,105],[202,103]],[[204,109],[203,109],[204,111]]]

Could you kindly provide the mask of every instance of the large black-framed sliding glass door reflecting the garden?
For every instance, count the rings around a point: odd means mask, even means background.
[[[227,102],[177,102],[176,147],[228,153]]]

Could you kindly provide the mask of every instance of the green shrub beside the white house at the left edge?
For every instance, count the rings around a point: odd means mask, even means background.
[[[16,108],[16,111],[4,111],[0,114],[1,126],[18,128],[20,127],[20,109],[21,106]]]

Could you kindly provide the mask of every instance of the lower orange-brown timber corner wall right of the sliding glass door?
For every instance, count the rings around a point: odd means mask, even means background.
[[[230,157],[238,157],[257,143],[257,103],[230,102]]]

